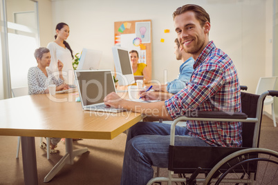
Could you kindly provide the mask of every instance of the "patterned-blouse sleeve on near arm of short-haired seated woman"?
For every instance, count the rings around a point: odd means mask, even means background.
[[[35,68],[30,68],[28,70],[28,89],[30,95],[47,93],[46,87],[39,86],[37,75],[38,73]]]

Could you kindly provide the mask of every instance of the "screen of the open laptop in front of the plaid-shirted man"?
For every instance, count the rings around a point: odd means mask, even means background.
[[[103,103],[104,97],[115,92],[110,70],[75,70],[83,106]]]

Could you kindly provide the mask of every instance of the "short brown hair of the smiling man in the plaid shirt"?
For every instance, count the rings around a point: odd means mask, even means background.
[[[182,7],[179,7],[173,13],[173,19],[177,15],[183,14],[184,12],[192,11],[195,14],[196,19],[200,22],[200,25],[203,27],[205,22],[210,23],[210,15],[203,9],[201,6],[194,5],[194,4],[187,4]]]

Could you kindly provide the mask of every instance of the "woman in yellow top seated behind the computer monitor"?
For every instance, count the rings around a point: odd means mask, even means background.
[[[147,64],[140,63],[138,64],[139,55],[136,50],[131,50],[129,52],[129,57],[131,61],[131,66],[133,70],[134,76],[144,76],[144,82],[147,83],[147,81],[150,80],[149,73],[147,72]]]

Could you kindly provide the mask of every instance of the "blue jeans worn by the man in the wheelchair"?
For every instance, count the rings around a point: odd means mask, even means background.
[[[171,125],[138,122],[129,129],[124,152],[121,184],[147,184],[154,176],[151,166],[168,167]],[[187,135],[185,127],[176,126],[175,146],[210,146]]]

